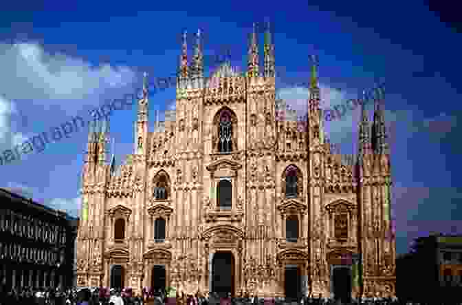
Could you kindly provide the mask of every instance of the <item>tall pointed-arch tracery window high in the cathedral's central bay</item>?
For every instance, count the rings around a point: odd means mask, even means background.
[[[214,153],[229,153],[237,149],[237,116],[223,106],[213,118],[212,147]]]

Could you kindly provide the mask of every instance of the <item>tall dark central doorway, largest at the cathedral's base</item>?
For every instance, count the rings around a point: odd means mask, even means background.
[[[212,292],[220,297],[234,296],[234,255],[231,252],[217,252],[212,260]]]

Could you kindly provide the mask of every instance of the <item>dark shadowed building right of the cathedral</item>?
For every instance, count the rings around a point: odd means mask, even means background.
[[[462,297],[462,235],[417,238],[412,252],[397,258],[397,295],[416,302]]]

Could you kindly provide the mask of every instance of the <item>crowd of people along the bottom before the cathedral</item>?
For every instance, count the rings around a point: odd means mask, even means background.
[[[171,296],[171,295],[170,295]],[[351,302],[341,302],[340,300],[327,299],[325,297],[303,297],[299,299],[283,299],[283,298],[262,298],[253,295],[244,295],[241,297],[223,297],[217,293],[208,295],[186,295],[184,293],[176,293],[176,297],[168,297],[167,291],[145,291],[142,295],[133,295],[131,289],[115,290],[109,288],[87,287],[87,288],[72,288],[63,291],[59,288],[30,288],[25,287],[20,290],[12,289],[5,291],[3,286],[0,286],[0,305],[161,305],[161,304],[177,304],[177,305],[278,305],[278,304],[403,304],[403,305],[423,305],[437,304],[435,302],[399,302],[396,298],[373,298],[351,300]],[[439,303],[438,303],[439,304]],[[460,305],[461,302],[441,302],[445,305]]]

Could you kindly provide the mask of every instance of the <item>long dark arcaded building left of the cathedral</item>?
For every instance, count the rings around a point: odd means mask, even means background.
[[[1,284],[72,286],[76,220],[7,189],[0,198]]]

